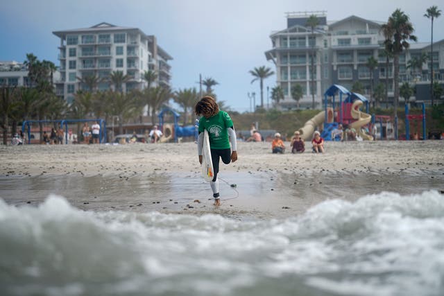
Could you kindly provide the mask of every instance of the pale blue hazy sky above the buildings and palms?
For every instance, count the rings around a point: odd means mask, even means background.
[[[267,66],[264,52],[269,35],[286,28],[285,12],[326,10],[327,21],[357,15],[386,21],[396,8],[409,15],[419,42],[430,40],[430,6],[444,11],[437,0],[10,0],[0,10],[0,60],[23,62],[26,53],[59,65],[58,37],[53,31],[86,28],[102,21],[140,28],[155,35],[173,60],[173,89],[196,87],[199,73],[213,78],[219,100],[232,109],[249,110],[248,92],[259,94],[259,82],[248,73]],[[444,39],[444,13],[434,22],[434,40]],[[266,86],[275,86],[275,76]],[[256,96],[257,103],[259,96]],[[266,103],[266,99],[265,99]]]

